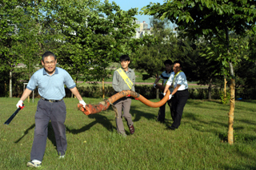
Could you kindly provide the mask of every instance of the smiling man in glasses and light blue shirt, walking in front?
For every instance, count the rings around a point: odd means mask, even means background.
[[[86,107],[86,102],[82,100],[76,85],[65,69],[56,67],[57,59],[54,53],[46,52],[42,54],[42,65],[44,68],[35,72],[25,91],[22,93],[17,107],[22,107],[26,97],[38,86],[38,93],[41,99],[38,101],[37,112],[35,113],[34,141],[30,152],[30,161],[26,164],[28,167],[39,167],[42,164],[42,158],[46,149],[46,140],[48,124],[54,128],[57,150],[60,158],[65,156],[66,152],[66,105],[62,100],[66,96],[64,85],[70,89],[78,98],[79,103]]]

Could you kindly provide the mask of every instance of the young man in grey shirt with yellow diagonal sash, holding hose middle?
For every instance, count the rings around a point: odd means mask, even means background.
[[[122,68],[115,70],[113,75],[112,86],[114,88],[114,91],[116,93],[121,92],[122,90],[135,91],[135,73],[133,69],[130,69],[128,67],[130,64],[130,57],[127,55],[122,55],[120,57],[120,62]],[[130,134],[134,134],[134,122],[132,121],[130,115],[130,104],[131,97],[122,97],[118,101],[114,102],[114,106],[118,110],[118,117],[116,117],[117,131],[122,136],[126,136],[126,131],[122,122],[122,117],[124,117],[127,121]]]

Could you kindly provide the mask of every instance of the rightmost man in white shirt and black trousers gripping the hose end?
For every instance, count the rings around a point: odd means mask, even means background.
[[[182,72],[182,62],[174,61],[174,72],[171,73],[163,94],[165,95],[170,85],[174,86],[174,91],[170,93],[170,98],[173,97],[172,107],[174,109],[173,124],[169,126],[170,129],[175,130],[181,125],[183,109],[186,105],[186,101],[189,98],[188,85],[186,81],[186,75]]]

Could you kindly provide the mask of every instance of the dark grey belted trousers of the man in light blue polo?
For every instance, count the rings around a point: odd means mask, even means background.
[[[66,152],[66,105],[64,101],[50,102],[38,101],[37,112],[34,116],[34,141],[30,152],[30,160],[40,160],[46,150],[46,140],[48,136],[49,121],[54,129],[54,136],[59,155],[64,155]]]

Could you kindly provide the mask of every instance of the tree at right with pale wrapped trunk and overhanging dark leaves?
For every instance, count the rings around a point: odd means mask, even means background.
[[[226,52],[218,57],[222,65],[230,69],[230,113],[228,142],[233,144],[234,124],[234,57],[230,55],[230,32],[245,36],[247,33],[256,32],[255,2],[254,0],[235,1],[204,1],[183,0],[150,3],[142,8],[143,14],[155,15],[160,18],[168,18],[178,26],[178,30],[185,30],[191,38],[204,37],[206,39],[216,37],[218,43],[225,45]]]

